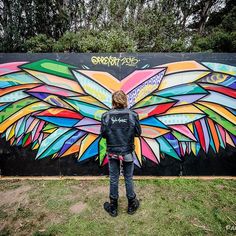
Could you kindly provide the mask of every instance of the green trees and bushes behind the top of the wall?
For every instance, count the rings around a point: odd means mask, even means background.
[[[235,52],[235,0],[0,0],[2,52]]]

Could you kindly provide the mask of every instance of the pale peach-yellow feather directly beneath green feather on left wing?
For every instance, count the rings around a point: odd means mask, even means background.
[[[35,76],[40,81],[44,82],[45,84],[57,86],[60,88],[68,89],[70,91],[77,92],[79,94],[84,94],[82,88],[76,81],[72,81],[69,79],[65,79],[56,75],[51,75],[39,71],[34,70],[27,70],[25,71],[33,76]]]

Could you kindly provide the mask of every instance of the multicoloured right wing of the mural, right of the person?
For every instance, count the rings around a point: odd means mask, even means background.
[[[163,154],[180,159],[191,152],[198,156],[200,150],[218,153],[226,145],[235,147],[236,68],[195,61],[156,68],[163,67],[158,85],[128,91],[142,126],[135,143],[139,164],[142,156],[159,163]]]

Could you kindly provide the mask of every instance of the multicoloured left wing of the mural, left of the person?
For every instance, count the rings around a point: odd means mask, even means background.
[[[90,96],[86,78],[80,75],[82,88],[74,69],[52,60],[2,64],[1,137],[11,145],[31,145],[36,159],[76,153],[82,161],[97,155],[100,118],[109,109],[103,98],[111,95],[99,97],[103,102]]]

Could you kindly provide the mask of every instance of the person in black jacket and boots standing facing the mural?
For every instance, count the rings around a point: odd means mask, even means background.
[[[105,112],[101,119],[101,136],[107,142],[107,157],[110,177],[110,202],[104,203],[104,209],[111,215],[118,215],[118,188],[120,170],[123,166],[128,214],[134,214],[139,200],[134,191],[134,137],[141,135],[138,114],[127,108],[127,96],[122,91],[112,94],[112,109]]]

